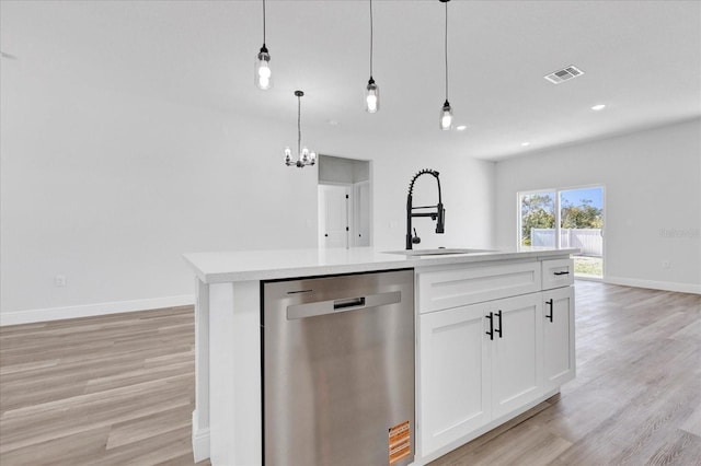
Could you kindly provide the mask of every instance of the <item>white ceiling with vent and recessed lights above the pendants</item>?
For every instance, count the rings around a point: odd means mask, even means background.
[[[381,109],[363,110],[368,1],[267,1],[274,89],[253,84],[261,1],[7,1],[1,49],[53,80],[216,107],[313,131],[420,138],[498,160],[701,116],[699,1],[467,1],[449,11],[450,103],[438,129],[444,4],[376,0]],[[586,74],[551,84],[570,65]],[[590,107],[604,103],[604,112]],[[329,121],[337,121],[332,126]],[[521,142],[529,141],[528,148]]]

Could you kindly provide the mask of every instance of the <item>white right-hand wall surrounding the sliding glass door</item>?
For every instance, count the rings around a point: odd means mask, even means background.
[[[606,188],[605,279],[701,293],[701,120],[498,162],[497,243],[516,245],[518,191],[593,184]]]

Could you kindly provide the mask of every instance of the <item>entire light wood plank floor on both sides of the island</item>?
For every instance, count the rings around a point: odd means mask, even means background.
[[[432,466],[701,465],[701,296],[576,305],[577,378]],[[192,307],[1,327],[0,464],[192,465],[193,346]]]

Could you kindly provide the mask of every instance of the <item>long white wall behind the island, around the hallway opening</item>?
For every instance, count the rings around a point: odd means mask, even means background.
[[[317,168],[283,164],[295,121],[73,86],[22,67],[3,66],[1,83],[3,324],[189,302],[186,252],[317,246]],[[304,138],[318,152],[374,161],[377,246],[403,247],[406,186],[424,166],[443,171],[448,209],[447,234],[439,242],[423,229],[424,245],[493,242],[493,163],[434,154],[401,135],[306,127]]]

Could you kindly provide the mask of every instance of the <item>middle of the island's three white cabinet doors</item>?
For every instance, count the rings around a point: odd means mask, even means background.
[[[494,313],[495,335],[491,341],[494,419],[542,394],[541,300],[541,293],[531,293],[485,303],[487,314]]]

